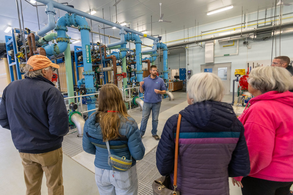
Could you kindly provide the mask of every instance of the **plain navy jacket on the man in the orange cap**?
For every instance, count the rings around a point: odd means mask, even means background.
[[[2,94],[0,125],[11,130],[20,152],[56,150],[69,131],[63,95],[42,76],[13,81]]]

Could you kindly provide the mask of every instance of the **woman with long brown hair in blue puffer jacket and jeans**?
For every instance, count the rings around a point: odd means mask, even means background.
[[[105,84],[101,88],[98,112],[91,115],[84,124],[82,140],[84,151],[96,155],[95,178],[99,193],[136,195],[136,160],[143,158],[145,149],[137,123],[127,114],[117,86]],[[112,155],[125,156],[128,160],[132,157],[130,169],[119,172],[108,165],[107,140]]]

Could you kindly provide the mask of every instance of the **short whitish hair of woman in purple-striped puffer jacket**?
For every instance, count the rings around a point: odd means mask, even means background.
[[[206,100],[221,101],[224,96],[224,85],[213,73],[197,73],[190,77],[187,92],[193,103]]]

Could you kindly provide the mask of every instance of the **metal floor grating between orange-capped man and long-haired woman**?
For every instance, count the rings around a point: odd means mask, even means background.
[[[63,153],[69,156],[70,158],[84,151],[82,149],[82,137],[77,137],[77,135],[77,132],[73,132],[71,134],[64,136],[63,138]]]

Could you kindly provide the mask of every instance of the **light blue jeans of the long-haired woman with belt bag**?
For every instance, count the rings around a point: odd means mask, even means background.
[[[136,165],[125,172],[100,169],[95,166],[96,184],[101,195],[137,195]]]

